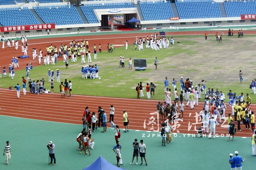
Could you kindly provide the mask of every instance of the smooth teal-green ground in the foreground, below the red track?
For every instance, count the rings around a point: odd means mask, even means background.
[[[6,165],[5,156],[0,160],[1,170],[35,170],[35,169],[73,169],[81,170],[90,165],[100,155],[111,164],[116,164],[116,156],[112,150],[115,146],[114,131],[108,128],[101,133],[102,127],[92,138],[95,139],[94,149],[90,150],[92,156],[79,154],[76,137],[82,131],[82,125],[56,123],[18,117],[0,116],[0,143],[4,150],[6,141],[11,145],[11,159]],[[8,123],[7,123],[8,122]],[[22,128],[20,128],[22,127]],[[252,156],[251,138],[235,137],[234,141],[227,142],[227,137],[197,137],[191,134],[173,134],[172,143],[162,146],[162,137],[158,132],[130,130],[119,138],[122,146],[121,155],[124,165],[121,168],[128,170],[141,169],[184,169],[184,170],[222,170],[229,169],[229,154],[237,150],[242,158],[246,158],[242,166],[249,169],[254,165]],[[148,166],[138,165],[136,158],[132,161],[134,139],[142,139],[146,145],[146,160]],[[52,141],[55,145],[56,165],[48,165],[47,145]],[[2,151],[3,151],[2,150]]]

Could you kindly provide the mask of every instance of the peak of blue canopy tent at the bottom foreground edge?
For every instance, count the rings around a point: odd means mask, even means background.
[[[82,170],[124,170],[122,168],[118,168],[115,165],[110,164],[106,159],[102,156],[99,156],[92,164],[87,166]]]

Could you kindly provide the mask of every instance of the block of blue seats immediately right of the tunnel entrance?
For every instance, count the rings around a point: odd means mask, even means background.
[[[140,9],[145,21],[170,20],[174,17],[170,1],[139,2]]]

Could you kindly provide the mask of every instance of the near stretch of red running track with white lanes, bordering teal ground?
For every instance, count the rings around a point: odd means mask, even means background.
[[[157,131],[159,129],[158,127],[160,127],[160,121],[152,119],[156,117],[155,112],[157,104],[158,101],[156,100],[82,95],[73,95],[72,98],[61,98],[60,94],[56,93],[37,95],[30,94],[30,92],[27,92],[26,96],[23,95],[23,92],[20,92],[20,98],[18,99],[16,90],[0,88],[0,115],[81,125],[86,106],[89,107],[91,113],[93,111],[98,112],[98,106],[101,106],[106,111],[109,121],[109,108],[113,105],[115,108],[114,123],[119,125],[120,128],[124,128],[122,111],[126,110],[130,122],[130,129]],[[256,109],[255,105],[251,106],[252,110]],[[175,128],[173,133],[196,134],[194,127],[197,129],[198,126],[201,126],[200,117],[198,117],[198,121],[196,121],[196,113],[199,113],[202,107],[202,103],[200,103],[199,106],[195,106],[194,110],[191,110],[190,107],[185,107],[184,120],[182,121],[180,119],[172,124]],[[228,115],[230,111],[231,107],[227,107],[225,115]],[[196,122],[199,123],[196,124]],[[221,125],[222,124],[216,127],[216,133],[226,136],[228,129]],[[224,125],[227,125],[227,123],[224,123]],[[110,123],[107,123],[107,126],[110,127]],[[252,136],[252,131],[246,130],[245,125],[241,125],[241,129],[242,131],[238,131],[236,136]]]

